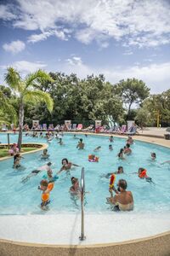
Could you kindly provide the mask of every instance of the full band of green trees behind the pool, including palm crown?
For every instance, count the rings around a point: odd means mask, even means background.
[[[23,122],[31,125],[32,119],[54,124],[101,119],[105,125],[111,121],[122,125],[135,119],[138,125],[153,126],[159,115],[161,125],[170,125],[170,90],[150,95],[150,88],[139,79],[111,84],[103,74],[79,79],[74,73],[41,70],[23,79],[12,67],[4,77],[8,86],[0,86],[1,124],[14,122],[21,127]]]

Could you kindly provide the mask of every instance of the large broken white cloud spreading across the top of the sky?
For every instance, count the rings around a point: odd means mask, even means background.
[[[170,4],[168,0],[18,0],[14,11],[20,11],[13,20],[14,27],[40,30],[42,35],[33,40],[48,38],[46,32],[65,40],[72,35],[83,44],[96,40],[101,47],[114,38],[122,45],[133,47],[157,47],[170,43]],[[11,9],[2,5],[12,19]],[[11,16],[10,16],[11,15]],[[3,18],[5,20],[5,16]],[[38,36],[38,35],[37,35]],[[67,38],[67,39],[68,39]]]

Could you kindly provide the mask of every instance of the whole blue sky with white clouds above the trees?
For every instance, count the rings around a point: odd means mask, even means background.
[[[170,89],[170,0],[0,0],[0,84],[7,67],[103,73]]]

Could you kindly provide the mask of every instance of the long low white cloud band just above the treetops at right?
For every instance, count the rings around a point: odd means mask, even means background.
[[[73,58],[72,58],[73,59]],[[161,64],[148,64],[143,67],[135,65],[133,67],[90,67],[82,60],[78,63],[68,59],[63,66],[59,64],[59,70],[65,73],[77,73],[77,76],[84,79],[87,75],[103,73],[105,79],[112,84],[118,83],[122,79],[142,79],[150,88],[151,93],[160,93],[170,88],[170,62]]]

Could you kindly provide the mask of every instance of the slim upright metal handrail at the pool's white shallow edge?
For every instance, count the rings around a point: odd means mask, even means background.
[[[84,193],[85,193],[85,180],[84,180],[84,167],[82,167],[82,175],[81,175],[81,208],[82,208],[82,222],[81,222],[81,236],[79,239],[81,241],[86,239],[84,236]]]

